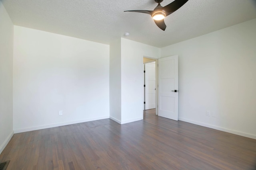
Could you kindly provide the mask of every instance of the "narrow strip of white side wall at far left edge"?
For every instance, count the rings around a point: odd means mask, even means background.
[[[12,56],[13,24],[0,1],[0,153],[13,135]]]

